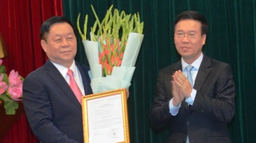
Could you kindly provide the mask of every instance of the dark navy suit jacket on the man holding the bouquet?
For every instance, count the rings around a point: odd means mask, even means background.
[[[76,62],[85,95],[92,94],[89,68]],[[23,83],[30,127],[41,143],[83,143],[82,107],[58,69],[48,60]]]

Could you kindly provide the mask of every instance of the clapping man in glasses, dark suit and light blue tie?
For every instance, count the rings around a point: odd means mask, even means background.
[[[150,120],[170,129],[169,143],[230,143],[226,123],[235,112],[230,65],[202,53],[208,24],[195,11],[174,22],[174,43],[182,59],[161,69]]]

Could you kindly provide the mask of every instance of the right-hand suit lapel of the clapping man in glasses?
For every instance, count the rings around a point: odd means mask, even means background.
[[[204,81],[206,80],[210,72],[210,68],[208,68],[210,66],[211,66],[210,58],[204,55],[202,63],[198,69],[197,78],[195,79],[195,84],[193,87],[195,90],[200,91],[202,85],[204,84]]]

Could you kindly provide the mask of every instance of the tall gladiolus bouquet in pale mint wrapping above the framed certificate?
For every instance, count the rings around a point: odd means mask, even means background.
[[[91,27],[90,40],[86,38],[88,15],[85,16],[83,34],[79,25],[80,14],[77,27],[91,69],[89,75],[93,93],[128,89],[144,37],[144,23],[140,22],[139,13],[119,13],[117,9],[112,12],[113,5],[100,22],[92,5],[91,7],[96,21]]]

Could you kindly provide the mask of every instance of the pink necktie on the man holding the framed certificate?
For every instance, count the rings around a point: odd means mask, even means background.
[[[69,69],[67,75],[69,75],[69,86],[72,89],[72,91],[74,92],[74,94],[76,95],[77,100],[81,104],[83,95],[82,95],[82,92],[80,91],[78,85],[76,84],[76,81],[73,76],[73,71]]]

